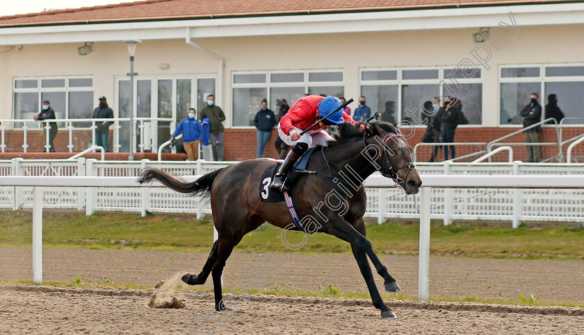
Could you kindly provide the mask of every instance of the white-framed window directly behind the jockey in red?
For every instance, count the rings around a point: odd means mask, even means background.
[[[234,72],[232,79],[234,127],[253,126],[264,98],[277,115],[281,99],[293,105],[304,94],[343,96],[345,92],[342,70]]]

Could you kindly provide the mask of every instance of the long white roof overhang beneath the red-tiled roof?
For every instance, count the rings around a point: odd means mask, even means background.
[[[584,3],[0,28],[0,45],[584,24]]]

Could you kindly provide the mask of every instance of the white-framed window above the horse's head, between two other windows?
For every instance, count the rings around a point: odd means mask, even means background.
[[[406,120],[414,125],[423,125],[428,118],[421,113],[425,101],[451,95],[462,102],[462,112],[469,123],[480,124],[481,72],[480,68],[457,67],[361,69],[361,95],[371,112],[379,112],[382,120]]]

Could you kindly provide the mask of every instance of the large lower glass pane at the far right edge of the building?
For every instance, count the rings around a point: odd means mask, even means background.
[[[549,94],[556,95],[558,107],[564,113],[564,117],[578,118],[578,120],[566,120],[564,123],[584,123],[584,81],[546,83],[545,89],[547,96]],[[543,101],[543,99],[540,98],[540,101]],[[546,103],[549,103],[547,97]]]

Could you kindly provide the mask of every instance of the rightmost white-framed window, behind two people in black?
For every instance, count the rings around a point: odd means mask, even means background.
[[[503,65],[500,78],[500,124],[521,124],[519,111],[528,103],[531,93],[540,96],[542,120],[546,119],[549,94],[555,94],[564,113],[565,124],[583,124],[584,64]]]

